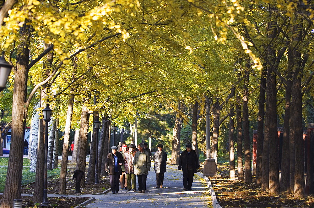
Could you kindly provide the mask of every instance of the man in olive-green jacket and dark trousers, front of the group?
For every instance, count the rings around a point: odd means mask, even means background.
[[[151,161],[144,144],[138,144],[138,152],[135,153],[133,160],[134,174],[138,176],[138,193],[145,193],[148,171],[150,171]]]

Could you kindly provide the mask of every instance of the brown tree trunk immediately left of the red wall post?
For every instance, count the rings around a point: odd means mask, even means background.
[[[243,138],[244,138],[244,181],[252,183],[251,172],[251,145],[250,145],[250,132],[249,132],[249,108],[248,108],[248,85],[249,75],[246,73],[244,77],[244,90],[243,90]]]

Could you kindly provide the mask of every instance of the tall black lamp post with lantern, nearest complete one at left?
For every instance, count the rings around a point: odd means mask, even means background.
[[[48,196],[47,196],[47,161],[48,161],[48,123],[51,119],[52,110],[49,108],[49,105],[46,105],[46,108],[42,110],[44,121],[46,122],[45,128],[45,168],[44,168],[44,198],[42,201],[43,206],[49,206]]]

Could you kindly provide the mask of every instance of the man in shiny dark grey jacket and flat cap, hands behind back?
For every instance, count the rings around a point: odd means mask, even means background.
[[[156,188],[162,188],[164,183],[164,175],[166,172],[166,162],[167,162],[167,153],[162,150],[164,145],[157,145],[158,151],[155,152],[153,160],[154,160],[154,171],[156,173]]]

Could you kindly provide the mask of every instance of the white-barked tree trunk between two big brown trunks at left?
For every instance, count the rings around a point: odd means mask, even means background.
[[[32,125],[30,130],[30,137],[32,137],[31,150],[28,152],[30,156],[30,172],[36,172],[37,164],[37,149],[38,149],[38,132],[39,132],[39,112],[36,111],[40,107],[40,102],[35,104],[34,114],[32,118]]]

